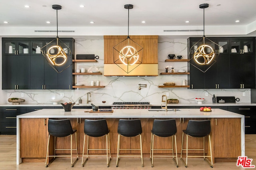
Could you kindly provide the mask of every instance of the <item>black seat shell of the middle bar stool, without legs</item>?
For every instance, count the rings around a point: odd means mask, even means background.
[[[138,136],[142,133],[140,119],[125,120],[120,119],[118,123],[118,134],[126,137]]]

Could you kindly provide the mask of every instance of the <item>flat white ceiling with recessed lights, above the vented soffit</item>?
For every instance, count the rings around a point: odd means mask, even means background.
[[[246,26],[256,20],[256,0],[0,0],[0,27],[122,27],[128,24],[125,4],[130,10],[130,26],[202,26],[205,9],[207,26]],[[83,4],[85,7],[80,8]],[[220,4],[220,6],[217,6]],[[29,5],[30,8],[25,8]],[[146,21],[142,24],[142,21]],[[190,21],[185,23],[185,21]],[[235,22],[240,20],[240,22]],[[8,24],[3,22],[7,21]],[[46,24],[50,21],[50,24]],[[90,24],[94,21],[94,24]]]

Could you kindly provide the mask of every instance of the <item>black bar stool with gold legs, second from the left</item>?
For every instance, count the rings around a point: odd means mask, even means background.
[[[111,153],[110,153],[110,139],[109,139],[109,132],[108,125],[106,119],[101,120],[84,120],[84,145],[85,145],[85,138],[87,137],[87,154],[84,155],[84,147],[83,147],[83,156],[82,156],[82,167],[88,160],[89,156],[106,156],[107,158],[107,167],[109,166],[109,162],[111,160]],[[106,136],[106,148],[104,149],[89,149],[89,136],[91,137],[101,137]],[[109,148],[108,148],[109,146]],[[88,155],[89,150],[106,150],[106,155]],[[110,160],[108,161],[108,151],[110,155]],[[86,160],[84,161],[84,157]]]

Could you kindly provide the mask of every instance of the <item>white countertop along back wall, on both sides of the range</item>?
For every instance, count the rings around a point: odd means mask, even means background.
[[[93,103],[96,106],[112,106],[112,103]],[[152,106],[161,106],[165,105],[165,103],[150,103]],[[256,103],[168,103],[168,106],[256,106]],[[20,103],[20,105],[12,105],[11,103],[0,104],[0,107],[46,107],[46,106],[62,106],[60,104],[53,105],[52,103]],[[75,104],[74,106],[83,107],[83,106],[91,106],[91,104]]]

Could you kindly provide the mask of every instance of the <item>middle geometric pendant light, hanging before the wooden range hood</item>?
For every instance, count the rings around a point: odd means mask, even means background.
[[[133,8],[133,5],[126,4],[124,8],[128,9],[128,36],[113,47],[113,56],[114,63],[126,73],[130,73],[142,63],[143,47],[129,36],[129,10]]]

